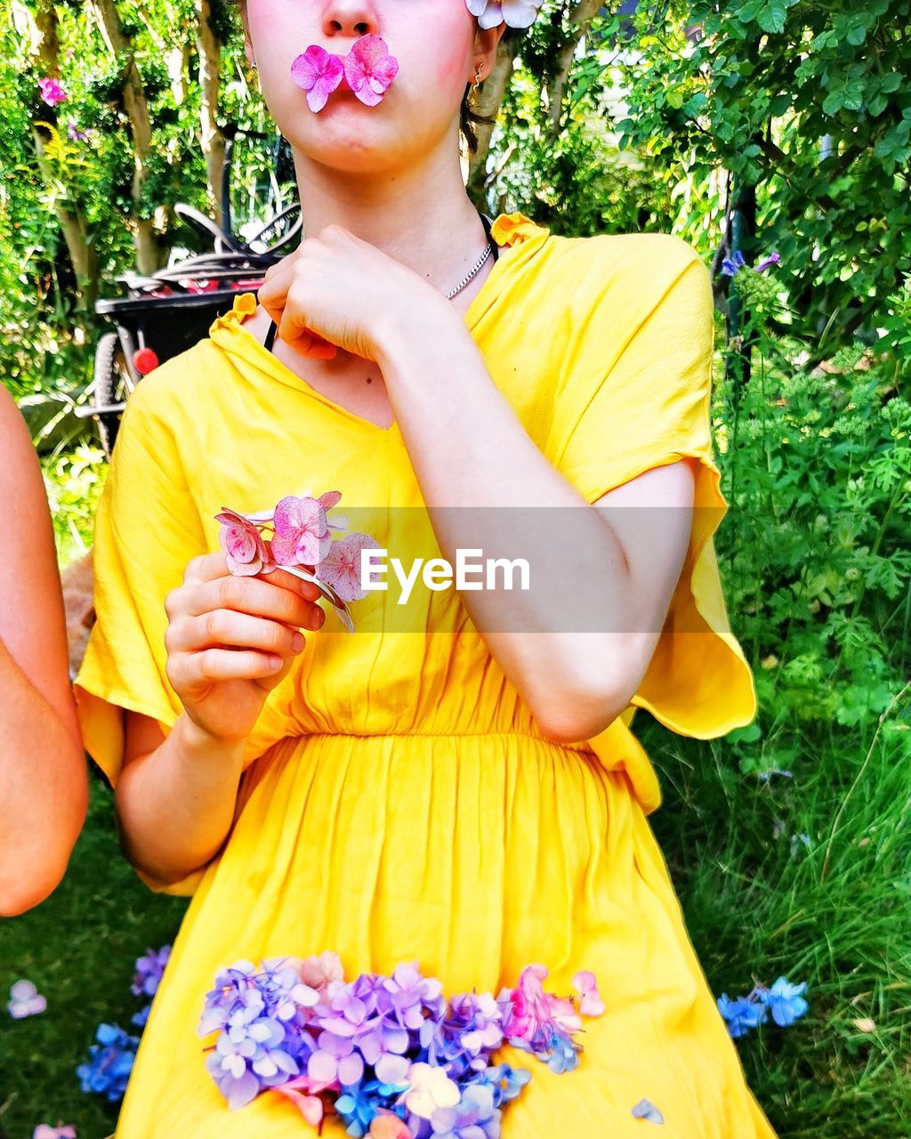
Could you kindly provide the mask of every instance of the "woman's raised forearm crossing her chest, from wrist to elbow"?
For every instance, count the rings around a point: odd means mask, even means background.
[[[647,639],[614,528],[528,437],[461,321],[435,310],[416,318],[387,335],[380,367],[443,556],[532,554],[531,589],[461,593],[498,663],[533,710],[588,708],[582,720],[606,726],[627,696],[629,669],[616,662]],[[547,589],[535,587],[535,562]]]

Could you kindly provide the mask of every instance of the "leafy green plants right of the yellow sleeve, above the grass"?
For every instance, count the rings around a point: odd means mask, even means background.
[[[715,390],[734,523],[730,605],[763,707],[818,724],[879,715],[911,674],[911,403],[861,346],[806,371],[769,333],[780,282],[741,269],[756,367]]]

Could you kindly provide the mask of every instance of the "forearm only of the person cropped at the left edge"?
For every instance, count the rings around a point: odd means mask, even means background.
[[[85,756],[0,638],[0,913],[57,886],[82,828]]]

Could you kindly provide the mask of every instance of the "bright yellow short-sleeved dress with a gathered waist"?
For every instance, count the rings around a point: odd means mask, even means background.
[[[424,631],[384,631],[392,592],[353,604],[354,634],[329,612],[249,739],[222,852],[169,887],[142,876],[192,900],[116,1139],[314,1133],[276,1092],[229,1111],[204,1066],[214,1038],[196,1029],[221,967],[325,949],[350,978],[416,960],[444,993],[496,993],[541,962],[545,988],[568,995],[577,969],[594,972],[607,1011],[583,1022],[575,1071],[500,1052],[532,1072],[504,1109],[507,1139],[639,1136],[654,1125],[631,1114],[643,1098],[668,1139],[773,1136],[686,933],[646,818],[658,784],[630,731],[635,707],[700,739],[756,712],[713,546],[727,502],[709,428],[708,273],[667,235],[567,238],[501,214],[493,236],[500,257],[466,325],[564,477],[594,502],[651,467],[699,459],[689,550],[649,670],[606,731],[557,745],[458,595],[435,595],[449,601],[428,607]],[[87,748],[112,784],[122,710],[165,732],[180,712],[163,600],[191,557],[219,548],[223,506],[263,510],[306,490],[342,491],[342,514],[422,505],[397,425],[368,423],[282,366],[244,328],[254,306],[238,296],[123,416],[97,515],[98,620],[75,682]],[[330,1121],[322,1133],[344,1131]]]

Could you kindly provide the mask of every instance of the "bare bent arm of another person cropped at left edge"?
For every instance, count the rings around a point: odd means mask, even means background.
[[[2,385],[0,442],[8,535],[0,603],[0,915],[13,917],[63,878],[85,819],[88,773],[41,467]]]

